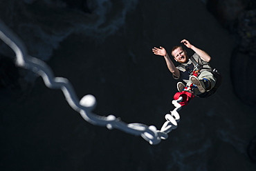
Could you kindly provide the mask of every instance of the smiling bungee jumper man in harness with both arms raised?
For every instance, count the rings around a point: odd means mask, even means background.
[[[211,57],[203,50],[193,46],[186,39],[183,39],[181,43],[195,53],[192,57],[189,57],[182,46],[174,46],[172,48],[172,57],[174,57],[175,61],[181,63],[177,67],[174,66],[165,48],[154,47],[152,51],[154,54],[164,57],[167,68],[172,72],[174,79],[182,79],[186,83],[186,86],[182,82],[177,83],[179,92],[182,92],[185,88],[191,88],[193,94],[200,97],[200,94],[205,94],[205,92],[212,90],[217,81],[208,63]]]

